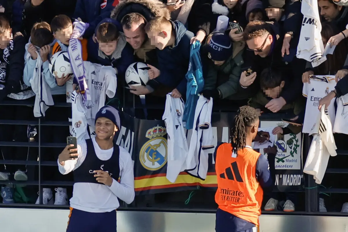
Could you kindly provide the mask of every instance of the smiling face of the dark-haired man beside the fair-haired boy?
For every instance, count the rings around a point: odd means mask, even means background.
[[[123,27],[126,40],[133,47],[133,49],[139,49],[146,39],[146,33],[143,26],[144,23],[145,22],[141,23],[140,25],[134,24],[129,30]]]

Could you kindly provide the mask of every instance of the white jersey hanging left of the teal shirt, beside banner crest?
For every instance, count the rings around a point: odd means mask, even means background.
[[[174,183],[179,173],[186,169],[184,163],[189,147],[182,122],[185,103],[182,98],[174,98],[171,94],[167,94],[166,107],[162,119],[166,123],[168,134],[167,179]]]

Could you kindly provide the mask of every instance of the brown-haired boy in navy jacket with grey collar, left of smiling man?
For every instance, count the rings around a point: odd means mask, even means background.
[[[124,33],[119,31],[113,19],[105,19],[97,26],[95,39],[95,48],[89,50],[90,61],[112,66],[123,80],[128,66],[134,62],[134,51]]]

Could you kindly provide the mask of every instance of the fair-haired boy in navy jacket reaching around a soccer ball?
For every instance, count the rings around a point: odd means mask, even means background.
[[[147,86],[132,87],[132,93],[141,95],[159,88],[172,97],[185,96],[189,68],[190,40],[194,34],[179,21],[169,21],[163,16],[151,19],[145,26],[151,45],[156,46],[159,69],[149,65],[150,81]],[[156,80],[154,80],[156,79]],[[162,86],[162,87],[160,87]],[[163,88],[164,87],[164,88]]]

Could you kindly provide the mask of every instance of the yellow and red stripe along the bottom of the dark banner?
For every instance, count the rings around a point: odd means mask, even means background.
[[[203,181],[202,179],[193,177],[185,172],[181,172],[174,183],[168,181],[165,173],[134,178],[134,190],[136,192],[182,186],[217,187],[216,173],[207,173],[207,177],[205,181]]]

